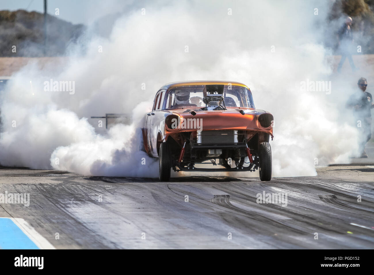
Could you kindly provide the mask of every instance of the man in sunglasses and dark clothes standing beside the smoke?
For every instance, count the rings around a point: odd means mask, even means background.
[[[374,108],[373,97],[366,92],[368,82],[366,78],[361,77],[358,82],[358,92],[349,98],[348,106],[355,110],[355,118],[360,131],[360,152],[361,158],[367,158],[365,145],[371,138],[371,109]],[[361,123],[360,123],[361,122]]]

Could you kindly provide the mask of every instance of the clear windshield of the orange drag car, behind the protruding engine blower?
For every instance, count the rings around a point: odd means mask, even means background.
[[[205,103],[203,103],[205,86],[179,86],[171,89],[168,96],[165,97],[163,109],[205,107]],[[249,89],[242,86],[222,86],[226,108],[254,108],[252,93]]]

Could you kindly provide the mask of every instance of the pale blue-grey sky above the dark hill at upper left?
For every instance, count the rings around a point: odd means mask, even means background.
[[[43,12],[43,0],[0,0],[0,10]],[[102,16],[121,12],[133,3],[132,0],[47,0],[47,12],[73,24],[90,25]]]

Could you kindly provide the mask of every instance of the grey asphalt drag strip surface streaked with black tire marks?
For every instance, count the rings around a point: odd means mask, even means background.
[[[374,166],[317,171],[270,182],[207,176],[160,183],[4,168],[0,193],[30,193],[30,206],[0,204],[0,217],[24,220],[57,249],[374,248]],[[258,204],[264,191],[287,194],[287,205]]]

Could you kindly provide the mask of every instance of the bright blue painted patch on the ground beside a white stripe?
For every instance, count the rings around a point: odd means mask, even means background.
[[[0,249],[39,249],[9,218],[0,218]]]

